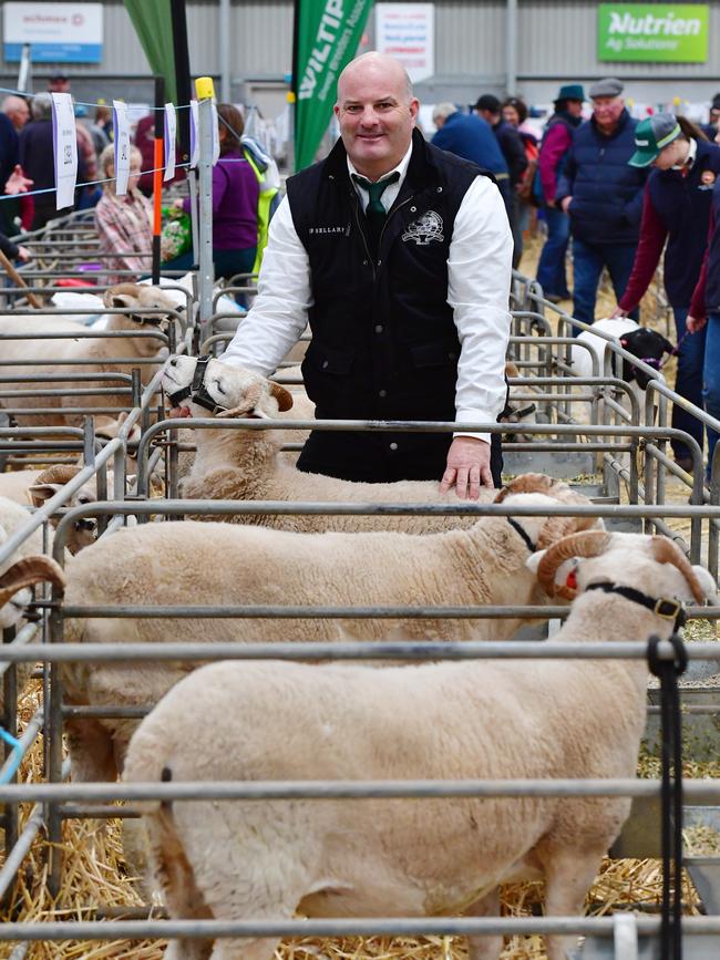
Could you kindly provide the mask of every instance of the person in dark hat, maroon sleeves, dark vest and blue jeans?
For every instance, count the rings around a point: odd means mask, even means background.
[[[573,145],[573,132],[583,123],[584,100],[582,83],[560,86],[554,103],[555,113],[545,126],[537,163],[547,224],[547,240],[537,264],[537,282],[553,303],[568,300],[570,296],[565,272],[570,225],[567,214],[555,205],[555,194]]]

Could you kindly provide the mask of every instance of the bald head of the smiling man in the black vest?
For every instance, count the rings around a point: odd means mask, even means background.
[[[335,115],[358,173],[380,179],[410,148],[420,104],[403,65],[387,53],[364,53],[338,80]]]

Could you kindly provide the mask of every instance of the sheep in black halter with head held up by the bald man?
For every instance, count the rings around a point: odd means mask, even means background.
[[[174,357],[168,361],[163,373],[166,394],[172,396],[192,384],[196,363],[194,357]],[[275,419],[296,413],[294,395],[285,388],[251,370],[229,367],[219,360],[209,361],[204,385],[209,398],[224,407],[217,413],[222,417]],[[191,396],[177,402],[193,416],[212,415]],[[299,415],[304,416],[302,413]],[[186,440],[191,431],[182,433]],[[455,492],[441,493],[440,484],[434,481],[353,483],[298,471],[279,456],[281,445],[289,442],[291,433],[295,432],[222,427],[192,431],[197,451],[189,472],[182,478],[182,496],[191,499],[457,504]],[[495,493],[492,488],[481,487],[481,502],[492,502]],[[296,531],[384,529],[420,534],[470,526],[473,517],[240,514],[229,516],[227,520]]]

